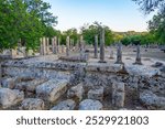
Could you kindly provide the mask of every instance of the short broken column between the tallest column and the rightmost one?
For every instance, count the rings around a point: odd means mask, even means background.
[[[121,43],[118,43],[117,62],[116,62],[116,64],[123,64],[123,62],[122,62],[122,46],[121,46]]]

